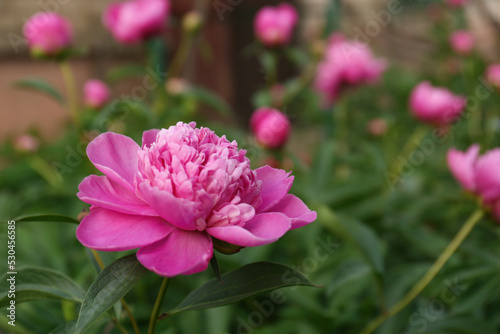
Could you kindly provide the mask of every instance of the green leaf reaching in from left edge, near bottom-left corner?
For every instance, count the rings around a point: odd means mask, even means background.
[[[11,276],[15,276],[16,303],[38,299],[60,299],[81,302],[85,291],[65,275],[44,268],[24,267],[16,275],[6,273],[0,279],[0,307],[10,303]]]

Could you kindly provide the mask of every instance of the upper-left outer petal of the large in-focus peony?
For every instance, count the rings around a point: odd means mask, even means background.
[[[106,132],[87,146],[87,155],[101,172],[134,191],[139,145],[127,136]]]

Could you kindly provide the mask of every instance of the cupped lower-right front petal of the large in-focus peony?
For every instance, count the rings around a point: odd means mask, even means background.
[[[241,226],[209,227],[211,236],[233,245],[254,247],[275,242],[291,227],[290,218],[282,213],[268,212],[256,215]]]

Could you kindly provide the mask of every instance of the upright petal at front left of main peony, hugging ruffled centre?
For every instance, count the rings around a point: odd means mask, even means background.
[[[149,206],[170,224],[183,230],[196,230],[198,203],[176,198],[170,192],[147,183],[140,184],[139,190]]]

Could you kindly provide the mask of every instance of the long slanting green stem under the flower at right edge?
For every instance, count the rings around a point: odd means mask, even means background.
[[[458,231],[457,235],[453,240],[448,244],[445,250],[439,255],[436,262],[429,268],[429,270],[425,273],[425,275],[413,286],[413,288],[401,299],[399,300],[393,307],[389,309],[386,313],[379,315],[373,321],[371,321],[361,332],[360,334],[370,334],[374,330],[376,330],[380,325],[382,325],[387,319],[393,317],[398,314],[401,310],[403,310],[409,303],[411,303],[419,294],[424,290],[427,285],[434,279],[437,273],[443,268],[445,263],[449,260],[449,258],[455,253],[457,248],[462,244],[465,238],[472,231],[474,226],[481,220],[484,212],[481,208],[476,209],[474,213],[467,219],[465,224],[462,226],[460,231]]]

